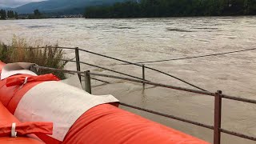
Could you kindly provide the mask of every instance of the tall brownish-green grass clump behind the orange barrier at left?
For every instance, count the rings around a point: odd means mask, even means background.
[[[64,69],[67,62],[60,59],[65,59],[62,49],[55,46],[45,46],[46,48],[39,48],[39,46],[30,46],[24,38],[17,38],[14,36],[11,46],[6,46],[0,43],[0,60],[5,63],[12,62],[31,62],[38,66],[46,66],[56,69]],[[36,49],[35,49],[36,48]],[[38,74],[54,74],[58,78],[65,78],[65,74],[61,71],[39,70]]]

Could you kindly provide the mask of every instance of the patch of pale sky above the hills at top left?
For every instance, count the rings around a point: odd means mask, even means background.
[[[39,2],[39,1],[43,1],[43,0],[0,0],[0,6],[17,7],[17,6],[22,6],[26,3]]]

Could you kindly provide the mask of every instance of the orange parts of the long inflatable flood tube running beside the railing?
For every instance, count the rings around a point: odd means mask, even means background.
[[[5,63],[0,62],[0,69]],[[46,75],[47,76],[47,75]],[[45,81],[58,81],[58,78],[48,75],[48,78],[36,78],[28,74],[16,74],[10,78],[0,81],[0,101],[11,114],[19,106],[24,94],[29,93],[34,86],[38,86]],[[39,77],[39,76],[38,76]],[[19,86],[26,78],[26,84]],[[17,81],[15,81],[15,79]],[[7,82],[8,81],[8,82]],[[6,84],[8,83],[8,86]],[[15,84],[16,83],[16,84]],[[17,84],[18,83],[18,84]],[[58,82],[57,82],[58,84]],[[16,86],[17,85],[17,86]],[[72,101],[79,101],[73,98]],[[162,126],[136,114],[119,109],[118,102],[100,104],[86,110],[70,126],[65,138],[60,141],[51,137],[50,134],[36,134],[43,142],[49,144],[142,144],[142,143],[159,143],[159,144],[205,144],[198,138],[188,134]],[[65,107],[65,106],[63,106]],[[43,108],[42,108],[43,109]],[[59,107],[62,110],[62,107]],[[23,109],[22,109],[23,110]],[[24,114],[26,109],[24,108]],[[69,113],[64,111],[63,114]],[[15,114],[14,114],[15,115]],[[54,115],[51,115],[54,117]],[[15,121],[14,121],[15,122]],[[54,124],[56,125],[56,123]],[[55,133],[55,132],[54,132]],[[58,133],[58,132],[57,132]],[[6,138],[6,137],[5,137]],[[0,138],[1,143],[1,138]]]

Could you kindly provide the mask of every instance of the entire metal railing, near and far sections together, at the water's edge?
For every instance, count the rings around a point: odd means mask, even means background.
[[[37,48],[33,48],[33,49],[43,49],[43,48],[46,48],[46,47],[37,47]],[[204,89],[202,89],[198,86],[194,86],[190,82],[186,82],[186,81],[182,80],[181,78],[177,78],[177,77],[175,77],[171,74],[167,74],[167,73],[162,72],[160,70],[156,70],[156,69],[148,67],[148,66],[140,65],[138,63],[127,62],[127,61],[124,61],[124,60],[121,60],[121,59],[118,59],[118,58],[112,58],[112,57],[109,57],[109,56],[106,56],[106,55],[103,55],[103,54],[97,54],[97,53],[91,52],[89,50],[82,50],[82,49],[79,49],[78,47],[76,47],[76,48],[57,47],[57,48],[67,49],[67,50],[75,50],[75,56],[76,56],[75,61],[63,60],[63,59],[62,60],[63,61],[69,61],[69,62],[75,62],[77,70],[61,70],[61,69],[54,69],[54,68],[43,67],[43,66],[34,66],[34,67],[36,67],[38,69],[44,69],[44,70],[60,70],[60,71],[63,71],[65,73],[78,74],[78,77],[79,77],[80,81],[81,81],[81,77],[85,77],[85,90],[87,92],[89,92],[90,94],[91,94],[90,79],[95,79],[95,80],[98,80],[98,81],[101,81],[101,82],[105,82],[105,81],[99,80],[97,78],[91,78],[90,77],[90,76],[97,76],[97,77],[103,77],[103,78],[115,78],[115,79],[126,80],[126,81],[129,81],[129,82],[142,83],[143,88],[144,88],[145,84],[148,84],[148,85],[152,85],[152,86],[161,86],[161,87],[166,87],[166,88],[174,89],[174,90],[182,90],[182,91],[186,91],[186,92],[190,92],[190,93],[204,94],[204,95],[212,96],[212,97],[214,97],[214,126],[206,125],[206,124],[200,123],[200,122],[194,122],[194,121],[191,121],[191,120],[188,120],[188,119],[185,119],[185,118],[179,118],[177,116],[170,115],[170,114],[162,114],[160,112],[157,112],[157,111],[154,111],[154,110],[147,110],[145,108],[138,107],[138,106],[131,106],[129,104],[122,103],[122,102],[120,102],[120,104],[122,106],[128,106],[128,107],[131,107],[131,108],[134,108],[134,109],[137,109],[137,110],[146,111],[146,112],[151,113],[151,114],[158,114],[158,115],[166,117],[166,118],[172,118],[172,119],[176,119],[176,120],[181,121],[181,122],[187,122],[187,123],[190,123],[190,124],[193,124],[193,125],[196,125],[196,126],[202,126],[202,127],[207,128],[207,129],[214,130],[214,144],[220,144],[221,133],[230,134],[230,135],[234,135],[234,136],[237,136],[237,137],[240,137],[240,138],[246,138],[246,139],[250,139],[252,141],[256,141],[256,137],[249,136],[249,135],[246,135],[246,134],[240,134],[240,133],[230,131],[230,130],[225,130],[225,129],[222,129],[222,126],[221,126],[221,123],[222,123],[222,98],[226,98],[226,99],[230,99],[230,100],[234,100],[234,101],[239,101],[239,102],[248,102],[248,103],[256,104],[256,100],[254,100],[254,99],[238,98],[238,97],[222,94],[221,90],[218,90],[215,93],[211,93],[211,92],[209,92],[207,90],[204,90]],[[102,56],[102,57],[105,57],[105,58],[114,59],[114,60],[119,61],[119,62],[126,62],[126,63],[132,64],[134,66],[140,66],[140,67],[142,67],[142,78],[138,78],[138,77],[135,77],[135,76],[130,75],[130,74],[121,73],[121,72],[118,72],[118,71],[115,71],[115,70],[110,70],[110,69],[107,69],[107,68],[104,68],[104,67],[101,67],[101,66],[95,66],[95,65],[92,65],[90,63],[80,62],[80,57],[79,57],[79,51],[80,50],[84,51],[84,52],[87,52],[87,53],[90,53],[90,54],[96,54],[98,56]],[[109,70],[109,71],[114,72],[116,74],[126,75],[126,76],[129,76],[131,78],[118,77],[118,76],[109,75],[109,74],[91,73],[89,70],[81,71],[81,67],[80,67],[81,63],[89,65],[89,66],[95,66],[95,67],[101,68],[103,70]],[[146,78],[145,78],[145,69],[154,70],[154,71],[157,71],[161,74],[166,74],[166,75],[168,75],[172,78],[176,78],[176,79],[178,79],[182,82],[185,82],[186,84],[188,84],[190,86],[194,86],[194,87],[198,88],[198,90],[192,90],[192,89],[188,89],[188,88],[184,88],[184,87],[171,86],[171,85],[165,85],[165,84],[162,84],[162,83],[147,81]]]

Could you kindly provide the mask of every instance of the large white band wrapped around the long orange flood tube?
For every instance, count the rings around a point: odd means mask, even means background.
[[[50,136],[63,141],[86,110],[109,102],[119,101],[112,95],[92,95],[63,82],[42,82],[23,96],[14,116],[21,122],[54,122]]]

